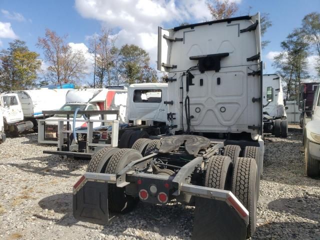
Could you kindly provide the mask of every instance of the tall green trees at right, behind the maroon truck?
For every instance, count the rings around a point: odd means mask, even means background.
[[[301,81],[311,77],[307,69],[308,56],[315,56],[314,67],[320,77],[320,13],[305,15],[301,27],[293,29],[280,46],[281,52],[274,56],[272,65],[285,82],[286,99],[294,100]]]

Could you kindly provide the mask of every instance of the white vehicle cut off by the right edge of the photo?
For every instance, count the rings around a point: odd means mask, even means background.
[[[304,160],[308,176],[320,175],[320,88],[314,94],[311,119],[304,126]]]

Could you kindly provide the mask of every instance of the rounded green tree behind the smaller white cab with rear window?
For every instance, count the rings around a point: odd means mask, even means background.
[[[125,44],[119,51],[119,73],[126,84],[143,82],[143,74],[149,66],[149,54],[134,44]]]

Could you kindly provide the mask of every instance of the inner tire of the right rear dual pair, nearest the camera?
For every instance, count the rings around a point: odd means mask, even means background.
[[[229,190],[231,188],[232,162],[229,156],[212,156],[208,160],[204,186]]]

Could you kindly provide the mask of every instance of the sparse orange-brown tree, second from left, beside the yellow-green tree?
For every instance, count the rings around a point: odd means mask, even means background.
[[[38,37],[36,45],[43,49],[47,71],[56,82],[75,82],[85,72],[85,58],[80,50],[72,50],[65,43],[66,35],[58,36],[55,31],[45,29],[44,37]]]

